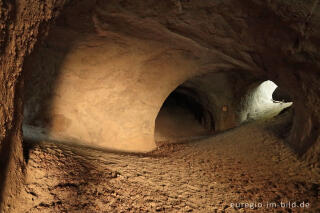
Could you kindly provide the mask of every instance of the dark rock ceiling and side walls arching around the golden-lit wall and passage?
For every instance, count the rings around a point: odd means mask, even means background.
[[[320,13],[317,1],[181,1],[179,7],[156,0],[137,1],[138,4],[126,2],[79,0],[63,7],[66,3],[63,0],[50,4],[22,0],[18,3],[6,1],[4,5],[7,6],[1,8],[4,16],[1,18],[3,33],[0,35],[0,143],[3,153],[13,150],[9,152],[13,153],[9,159],[2,157],[2,177],[13,177],[13,181],[6,184],[5,192],[17,191],[15,184],[19,181],[14,179],[22,167],[19,135],[23,107],[19,91],[20,81],[24,79],[20,74],[26,74],[24,59],[33,51],[34,44],[44,37],[54,17],[62,11],[76,20],[73,22],[70,21],[72,18],[63,17],[66,25],[81,32],[95,30],[90,17],[96,15],[95,6],[103,12],[99,14],[102,18],[98,18],[102,23],[97,30],[100,35],[122,31],[149,40],[165,40],[171,45],[180,42],[175,47],[189,50],[185,51],[189,55],[191,50],[201,58],[199,63],[203,70],[242,68],[272,79],[288,91],[295,102],[289,144],[300,154],[309,150],[306,154],[309,160],[319,162],[320,65],[317,44]],[[84,14],[90,14],[89,18]],[[63,41],[64,37],[60,39]],[[181,48],[186,46],[192,48]],[[45,61],[48,55],[43,57]],[[32,79],[36,81],[37,78]],[[44,90],[45,87],[41,88]],[[35,106],[29,105],[29,108]],[[8,173],[5,173],[7,167]],[[14,203],[14,193],[8,194],[12,200],[10,203]],[[1,209],[7,206],[4,203]]]

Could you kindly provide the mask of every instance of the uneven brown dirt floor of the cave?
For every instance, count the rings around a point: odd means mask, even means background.
[[[287,114],[144,155],[26,142],[13,212],[320,212],[320,172],[284,145]]]

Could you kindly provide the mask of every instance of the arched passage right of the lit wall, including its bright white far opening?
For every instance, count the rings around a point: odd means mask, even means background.
[[[192,77],[163,102],[155,120],[155,141],[158,145],[185,142],[272,118],[292,105],[273,100],[277,87],[242,71]]]

